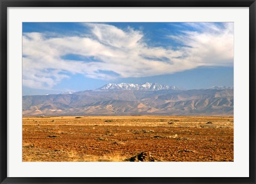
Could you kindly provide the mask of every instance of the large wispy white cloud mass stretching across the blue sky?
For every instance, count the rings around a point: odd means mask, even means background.
[[[91,35],[47,37],[37,32],[23,34],[23,85],[49,89],[69,74],[84,74],[95,79],[148,77],[170,74],[199,66],[230,66],[234,55],[234,24],[184,23],[198,31],[183,31],[168,38],[182,43],[171,49],[149,47],[143,32],[121,30],[108,24],[85,23]],[[63,59],[79,55],[86,61]],[[92,61],[89,61],[90,58]],[[111,71],[111,72],[109,72]],[[116,73],[113,75],[113,73]]]

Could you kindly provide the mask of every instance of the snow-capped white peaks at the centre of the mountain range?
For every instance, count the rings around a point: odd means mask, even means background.
[[[141,84],[134,84],[134,83],[108,83],[105,86],[102,86],[101,88],[98,88],[100,90],[142,90],[142,91],[157,91],[157,90],[184,90],[183,88],[180,88],[178,86],[167,86],[167,85],[161,85],[159,83],[141,83]]]

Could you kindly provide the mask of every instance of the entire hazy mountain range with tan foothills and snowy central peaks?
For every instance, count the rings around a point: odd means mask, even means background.
[[[186,90],[158,83],[109,83],[95,90],[22,97],[22,114],[233,115],[233,87]]]

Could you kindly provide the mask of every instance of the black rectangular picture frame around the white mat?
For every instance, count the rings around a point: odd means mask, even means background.
[[[255,0],[64,0],[64,1],[7,1],[0,0],[1,8],[1,83],[0,83],[0,182],[1,183],[255,183]],[[7,177],[7,7],[249,7],[250,22],[250,177],[248,178],[13,178]],[[242,170],[243,168],[241,168]]]

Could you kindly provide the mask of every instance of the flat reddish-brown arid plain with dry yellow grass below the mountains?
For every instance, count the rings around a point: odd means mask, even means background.
[[[234,161],[233,117],[23,117],[23,162]]]

